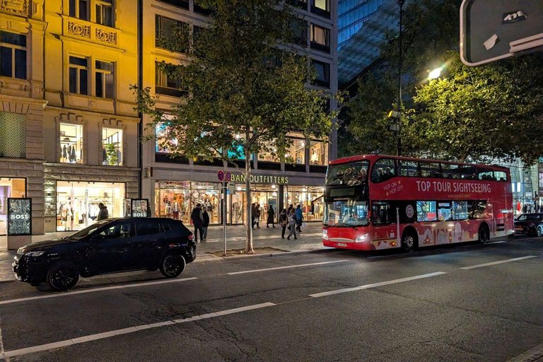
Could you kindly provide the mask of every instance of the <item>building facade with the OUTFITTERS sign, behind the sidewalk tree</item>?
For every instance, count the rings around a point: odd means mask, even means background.
[[[332,93],[337,91],[337,8],[331,0],[294,1],[300,17],[296,24],[298,44],[308,50],[311,62],[317,69],[317,84]],[[157,68],[160,62],[180,64],[186,61],[183,54],[173,54],[157,46],[156,36],[171,23],[192,24],[193,28],[209,25],[206,9],[199,8],[194,1],[144,0],[143,32],[143,85],[151,87],[156,97],[156,106],[163,110],[178,102],[178,86]],[[332,100],[331,107],[336,107]],[[144,116],[144,124],[151,121]],[[149,199],[151,214],[158,217],[179,218],[189,223],[192,208],[203,204],[209,211],[211,223],[243,223],[245,220],[245,180],[237,169],[228,167],[221,160],[214,162],[200,158],[172,158],[166,148],[158,146],[168,132],[167,124],[159,124],[148,130],[156,141],[143,144],[143,166],[141,187],[144,199]],[[294,144],[290,150],[296,165],[281,163],[267,154],[251,155],[252,200],[262,209],[272,206],[274,210],[301,204],[305,220],[322,220],[322,194],[326,165],[336,158],[335,132],[330,141],[304,139],[291,134]],[[245,167],[245,166],[243,166]],[[242,167],[242,168],[243,168]],[[223,190],[217,180],[218,170],[233,173],[233,183],[238,191],[226,195],[226,209],[221,207]]]

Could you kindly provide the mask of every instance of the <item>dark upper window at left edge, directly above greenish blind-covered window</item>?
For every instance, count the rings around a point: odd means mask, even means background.
[[[26,35],[0,32],[0,76],[26,79]]]

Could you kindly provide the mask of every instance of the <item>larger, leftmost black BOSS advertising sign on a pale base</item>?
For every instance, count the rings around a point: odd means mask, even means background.
[[[32,243],[32,199],[8,198],[8,250]]]

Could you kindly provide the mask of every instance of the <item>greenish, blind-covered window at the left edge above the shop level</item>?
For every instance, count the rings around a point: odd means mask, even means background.
[[[0,112],[0,157],[26,158],[25,115]]]

